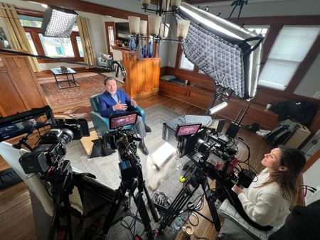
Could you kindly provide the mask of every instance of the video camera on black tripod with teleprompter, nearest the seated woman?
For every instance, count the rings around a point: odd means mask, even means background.
[[[194,119],[203,123],[207,120],[206,118],[208,116],[196,116]],[[186,116],[183,116],[182,119],[186,119]],[[255,178],[255,173],[251,170],[243,169],[238,174],[236,173],[236,165],[240,160],[235,158],[237,151],[229,146],[229,143],[232,143],[230,136],[219,137],[215,129],[207,127],[210,124],[202,126],[201,123],[181,123],[179,118],[164,123],[162,138],[177,148],[178,157],[188,156],[193,164],[189,165],[186,181],[183,182],[181,191],[166,209],[159,224],[159,231],[163,231],[174,221],[200,185],[203,188],[213,221],[206,219],[213,223],[215,229],[219,231],[220,219],[214,204],[217,197],[209,188],[208,178],[220,182],[223,192],[231,203],[233,200],[228,190],[235,184],[240,187],[249,187]]]

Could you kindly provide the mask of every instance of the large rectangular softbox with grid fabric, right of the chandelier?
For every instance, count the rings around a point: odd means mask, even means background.
[[[181,18],[191,21],[182,43],[186,58],[238,97],[255,97],[263,37],[186,3],[176,14]]]

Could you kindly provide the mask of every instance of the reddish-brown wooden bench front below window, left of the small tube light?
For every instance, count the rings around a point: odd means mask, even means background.
[[[181,86],[160,80],[160,93],[201,109],[208,109],[213,92],[194,85]]]

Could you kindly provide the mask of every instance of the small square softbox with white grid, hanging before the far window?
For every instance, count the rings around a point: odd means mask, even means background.
[[[41,33],[45,37],[69,38],[78,13],[69,9],[48,6],[43,16]]]

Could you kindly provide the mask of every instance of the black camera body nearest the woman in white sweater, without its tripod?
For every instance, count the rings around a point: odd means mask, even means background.
[[[199,124],[194,124],[198,128]],[[192,124],[188,124],[189,127]],[[235,166],[239,160],[235,158],[236,151],[228,146],[229,141],[219,138],[215,129],[198,128],[198,131],[193,134],[177,135],[179,128],[175,129],[175,138],[178,150],[178,157],[188,156],[203,170],[208,178],[217,179],[222,184],[231,187],[239,185],[240,187],[249,187],[252,180],[255,178],[255,173],[251,170],[241,170],[235,174]],[[172,131],[167,124],[164,124],[163,129],[164,140],[174,146]]]

